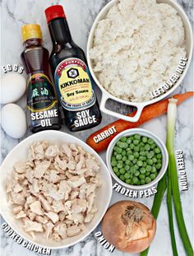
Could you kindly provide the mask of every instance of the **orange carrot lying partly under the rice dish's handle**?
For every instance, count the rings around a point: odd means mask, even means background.
[[[178,105],[180,105],[182,101],[187,100],[193,95],[194,91],[188,91],[183,94],[173,95],[173,98],[177,99]],[[168,104],[169,100],[166,99],[146,106],[141,113],[140,119],[136,123],[118,119],[117,121],[104,126],[104,128],[99,129],[99,131],[92,133],[86,139],[86,143],[90,145],[90,147],[94,148],[94,150],[97,152],[104,151],[109,146],[109,143],[112,141],[113,137],[118,135],[118,133],[121,133],[129,128],[136,128],[141,124],[148,122],[150,119],[155,119],[156,117],[167,113]],[[131,114],[127,114],[127,116],[132,117],[134,114],[136,114],[136,111],[133,111]]]

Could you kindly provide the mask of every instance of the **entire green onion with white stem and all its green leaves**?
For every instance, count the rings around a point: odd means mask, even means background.
[[[173,247],[173,256],[178,255],[177,246],[175,243],[175,236],[173,230],[173,207],[172,207],[172,194],[173,194],[173,202],[175,214],[178,222],[178,230],[182,238],[182,242],[187,253],[187,256],[193,256],[192,244],[187,235],[187,229],[185,226],[183,214],[182,214],[182,206],[181,199],[178,187],[178,173],[176,160],[174,156],[174,147],[173,147],[173,139],[174,139],[174,128],[175,128],[175,119],[177,114],[177,100],[170,99],[168,105],[168,128],[167,128],[167,142],[166,146],[169,152],[169,166],[168,166],[168,179],[167,175],[164,175],[162,179],[160,179],[157,193],[155,194],[153,206],[151,208],[151,212],[155,219],[157,219],[159,215],[159,209],[161,207],[162,199],[164,198],[165,190],[167,189],[167,180],[168,180],[168,193],[167,193],[167,204],[169,210],[169,227],[171,234],[171,242]],[[140,256],[148,255],[149,248],[141,252]]]

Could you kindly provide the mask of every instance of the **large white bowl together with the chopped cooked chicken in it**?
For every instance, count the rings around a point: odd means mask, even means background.
[[[1,166],[1,214],[25,240],[60,249],[92,232],[112,196],[104,161],[67,133],[25,138]]]

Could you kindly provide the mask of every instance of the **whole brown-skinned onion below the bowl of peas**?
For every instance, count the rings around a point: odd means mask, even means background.
[[[137,254],[150,246],[156,222],[148,207],[140,202],[120,201],[104,215],[102,231],[106,240],[123,252]]]

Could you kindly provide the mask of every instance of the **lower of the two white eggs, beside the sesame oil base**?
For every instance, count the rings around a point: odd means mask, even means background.
[[[16,104],[4,105],[1,111],[1,125],[10,137],[23,137],[27,130],[24,110]]]

